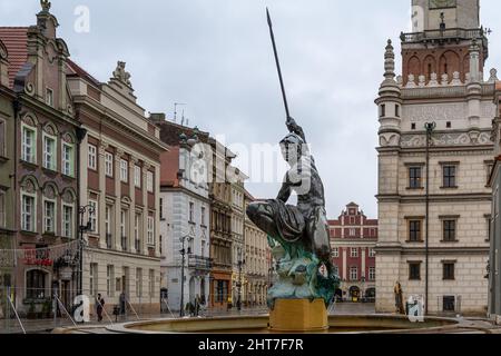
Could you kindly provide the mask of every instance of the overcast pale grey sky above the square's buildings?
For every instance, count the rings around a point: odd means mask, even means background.
[[[357,202],[376,217],[377,112],[373,100],[389,38],[410,29],[411,0],[51,0],[71,58],[101,81],[127,62],[139,103],[226,144],[276,144],[286,134],[266,24],[269,7],[292,116],[304,127],[324,180],[327,214]],[[487,71],[501,62],[499,0],[482,0],[493,29]],[[75,31],[78,6],[90,31]],[[0,0],[0,26],[35,23],[39,0]],[[499,44],[498,44],[499,43]],[[397,56],[399,57],[399,56]],[[399,67],[400,68],[400,58]],[[250,172],[252,175],[252,172]],[[247,185],[274,197],[276,184]]]

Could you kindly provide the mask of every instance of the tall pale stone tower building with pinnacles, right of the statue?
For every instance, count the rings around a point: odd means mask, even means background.
[[[479,1],[413,0],[401,34],[402,77],[389,41],[379,98],[376,312],[426,299],[429,314],[485,314],[495,71]]]

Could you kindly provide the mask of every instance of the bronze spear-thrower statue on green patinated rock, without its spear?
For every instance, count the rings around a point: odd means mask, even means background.
[[[268,235],[278,281],[268,290],[268,306],[276,299],[318,299],[332,303],[340,278],[331,263],[324,186],[310,154],[303,129],[287,119],[289,134],[281,149],[289,165],[276,199],[248,206],[247,216]],[[287,205],[292,192],[297,206]]]

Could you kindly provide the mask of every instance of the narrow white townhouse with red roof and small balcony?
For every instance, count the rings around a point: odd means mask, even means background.
[[[173,147],[171,152],[163,157],[161,274],[163,287],[167,289],[164,304],[168,304],[171,310],[179,310],[181,303],[186,308],[186,304],[195,304],[196,298],[203,305],[209,300],[209,169],[199,169],[200,146],[194,148],[196,142],[183,136],[179,146]]]

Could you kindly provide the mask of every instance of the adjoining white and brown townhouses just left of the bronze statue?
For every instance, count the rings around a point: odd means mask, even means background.
[[[161,156],[160,178],[163,308],[199,303],[226,309],[250,301],[247,177],[232,165],[235,155],[208,132],[165,113],[150,118],[170,148]]]

